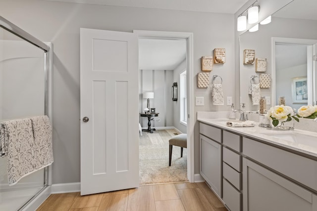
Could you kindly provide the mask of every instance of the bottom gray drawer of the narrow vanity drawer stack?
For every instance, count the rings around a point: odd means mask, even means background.
[[[230,185],[225,179],[223,184],[223,201],[230,211],[241,211],[242,194]]]

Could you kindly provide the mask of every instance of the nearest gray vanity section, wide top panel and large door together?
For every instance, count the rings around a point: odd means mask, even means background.
[[[243,211],[317,211],[317,161],[243,138]]]

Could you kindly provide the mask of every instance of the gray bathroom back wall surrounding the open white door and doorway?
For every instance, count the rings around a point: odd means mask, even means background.
[[[214,48],[226,49],[226,63],[214,65],[211,75],[223,79],[224,97],[234,98],[233,14],[115,7],[44,0],[1,0],[0,14],[41,41],[53,42],[53,184],[80,181],[80,43],[79,29],[192,32],[194,34],[194,100],[205,97],[205,106],[194,107],[195,173],[199,173],[197,111],[229,111],[212,106],[210,88],[197,88],[200,58]]]

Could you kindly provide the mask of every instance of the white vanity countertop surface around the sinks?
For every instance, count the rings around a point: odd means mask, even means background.
[[[256,138],[259,140],[262,140],[264,142],[268,142],[274,145],[278,145],[281,147],[285,147],[288,149],[292,149],[298,152],[302,152],[311,156],[317,157],[317,142],[314,146],[312,145],[305,145],[301,143],[295,143],[292,141],[287,141],[285,139],[272,137],[270,135],[265,135],[263,133],[300,133],[304,135],[310,135],[315,136],[317,140],[317,132],[312,131],[306,131],[301,129],[295,129],[295,130],[287,130],[287,131],[276,131],[272,130],[271,128],[265,128],[265,127],[259,127],[258,123],[256,123],[255,127],[228,127],[226,126],[226,122],[230,121],[227,118],[219,118],[220,116],[217,116],[216,119],[209,119],[209,116],[204,115],[204,118],[202,118],[201,115],[197,116],[197,120],[202,123],[206,123],[211,126],[220,127],[225,130],[233,131],[236,133],[239,133],[243,136],[247,136],[250,138]],[[317,126],[316,126],[317,127]]]

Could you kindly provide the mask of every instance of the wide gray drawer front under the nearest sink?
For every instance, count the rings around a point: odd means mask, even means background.
[[[317,161],[246,137],[243,154],[317,191]]]

